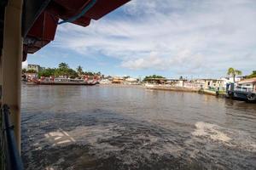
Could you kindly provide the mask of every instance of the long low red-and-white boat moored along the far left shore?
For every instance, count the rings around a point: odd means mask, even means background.
[[[73,79],[73,78],[54,78],[54,77],[42,77],[41,79],[34,80],[34,84],[38,85],[84,85],[93,86],[98,84],[97,80],[86,79]]]

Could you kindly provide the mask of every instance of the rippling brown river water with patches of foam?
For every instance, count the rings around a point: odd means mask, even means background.
[[[22,87],[26,169],[256,169],[256,105],[111,86]]]

